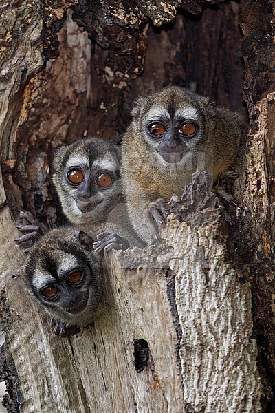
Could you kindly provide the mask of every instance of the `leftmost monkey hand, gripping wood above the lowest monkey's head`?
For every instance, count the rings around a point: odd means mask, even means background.
[[[23,235],[14,240],[17,245],[24,242],[35,242],[41,235],[47,232],[47,227],[44,224],[36,220],[30,212],[24,211],[21,211],[19,214],[17,229],[23,233]],[[24,252],[27,253],[29,250],[30,248],[25,248]]]

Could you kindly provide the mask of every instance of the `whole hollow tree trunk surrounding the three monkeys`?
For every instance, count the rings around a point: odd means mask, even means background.
[[[3,1],[8,412],[275,412],[274,3],[210,3]],[[221,207],[207,175],[195,175],[160,244],[104,258],[94,328],[55,337],[20,277],[17,215],[63,222],[54,149],[80,136],[120,138],[133,100],[172,84],[249,117],[239,178],[226,184],[238,207]]]

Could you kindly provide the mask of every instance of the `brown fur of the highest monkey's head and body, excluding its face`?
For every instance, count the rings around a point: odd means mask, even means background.
[[[199,133],[192,146],[192,165],[169,164],[157,154],[146,129],[146,116],[153,107],[178,111],[195,107],[199,114]],[[122,185],[133,227],[140,238],[150,244],[153,233],[146,228],[144,210],[158,198],[168,201],[173,193],[181,195],[184,185],[197,169],[212,174],[213,182],[219,173],[232,167],[244,131],[239,114],[215,107],[208,98],[192,94],[179,87],[170,87],[140,98],[133,109],[133,121],[122,141]],[[172,116],[173,118],[173,116]],[[146,135],[147,134],[147,135]],[[201,162],[201,157],[203,162]]]

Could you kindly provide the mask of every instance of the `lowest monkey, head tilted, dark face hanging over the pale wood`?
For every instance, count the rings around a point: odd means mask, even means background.
[[[94,321],[103,282],[93,243],[84,231],[63,226],[43,235],[25,259],[25,284],[53,317],[56,335],[74,334]]]

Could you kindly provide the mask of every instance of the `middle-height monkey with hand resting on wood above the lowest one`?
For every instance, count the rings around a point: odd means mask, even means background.
[[[54,186],[69,222],[97,236],[96,251],[144,246],[129,220],[120,182],[120,147],[102,138],[78,139],[54,157]]]

